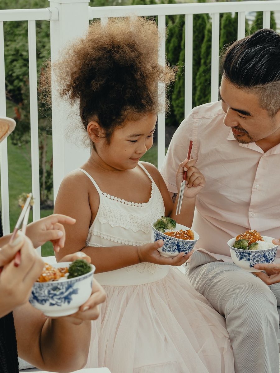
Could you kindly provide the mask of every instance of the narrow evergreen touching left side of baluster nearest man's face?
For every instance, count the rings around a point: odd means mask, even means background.
[[[211,45],[212,23],[209,21],[201,47],[201,66],[196,76],[196,106],[211,101]]]

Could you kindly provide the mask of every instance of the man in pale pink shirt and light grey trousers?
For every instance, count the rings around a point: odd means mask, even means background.
[[[280,35],[261,29],[236,41],[221,73],[221,100],[183,120],[162,175],[176,193],[175,170],[192,140],[192,158],[206,179],[193,200],[192,227],[205,250],[194,251],[187,274],[226,319],[235,372],[278,373],[280,284],[268,288],[233,264],[227,241],[247,229],[280,237]]]

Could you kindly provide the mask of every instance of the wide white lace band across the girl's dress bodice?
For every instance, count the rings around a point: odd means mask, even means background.
[[[149,233],[151,231],[151,223],[164,214],[164,203],[161,195],[155,200],[153,208],[150,212],[139,216],[138,214],[130,214],[127,211],[113,209],[112,207],[101,204],[99,207],[97,219],[101,224],[108,223],[112,228],[121,227],[131,229],[133,232],[142,231]]]

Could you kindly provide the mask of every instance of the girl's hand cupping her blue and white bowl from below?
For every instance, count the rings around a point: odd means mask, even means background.
[[[181,266],[182,264],[186,263],[186,261],[192,255],[191,253],[188,253],[186,255],[184,255],[184,253],[180,253],[173,258],[166,258],[162,256],[158,251],[158,248],[162,247],[163,245],[164,241],[162,239],[159,239],[158,241],[152,242],[151,244],[139,246],[139,261],[155,264],[164,264],[169,266]]]

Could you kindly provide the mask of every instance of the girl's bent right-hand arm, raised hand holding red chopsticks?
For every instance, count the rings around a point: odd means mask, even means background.
[[[178,224],[185,225],[189,228],[192,227],[193,223],[193,214],[195,212],[195,200],[197,193],[203,188],[205,184],[204,176],[199,172],[195,167],[195,161],[187,159],[184,162],[180,163],[177,173],[176,173],[176,182],[177,188],[180,190],[181,181],[183,179],[184,170],[187,171],[186,187],[184,191],[184,198],[182,201],[181,212],[180,214],[175,214],[178,197],[177,194],[175,203],[172,202],[170,193],[167,189],[167,186],[162,178],[159,170],[153,166],[153,164],[142,162],[147,171],[150,173],[155,183],[157,184],[159,190],[161,191],[162,198],[164,200],[165,206],[165,216],[170,216],[172,219],[176,220]],[[187,186],[189,185],[189,186]]]

